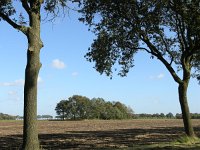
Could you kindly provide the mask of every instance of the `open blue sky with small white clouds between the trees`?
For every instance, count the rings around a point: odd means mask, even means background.
[[[23,115],[26,37],[6,22],[0,22],[0,112]],[[114,73],[112,80],[100,75],[87,62],[94,34],[71,12],[53,23],[42,22],[41,63],[38,78],[38,114],[56,116],[56,104],[73,95],[120,101],[135,113],[180,113],[178,86],[166,68],[145,52],[135,56],[127,77]],[[200,85],[191,79],[188,89],[192,113],[200,113]]]

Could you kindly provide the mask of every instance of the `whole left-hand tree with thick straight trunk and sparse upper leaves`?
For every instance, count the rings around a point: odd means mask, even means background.
[[[70,0],[69,0],[70,1]],[[0,1],[0,19],[6,21],[14,29],[21,31],[28,39],[27,65],[24,85],[24,128],[23,146],[25,150],[38,150],[37,132],[37,79],[40,63],[40,50],[43,47],[40,38],[41,7],[49,14],[57,15],[60,8],[67,6],[68,0],[20,0],[22,5],[18,14],[13,0]],[[20,5],[19,5],[20,6]],[[19,15],[19,17],[17,17]],[[25,15],[25,16],[26,16]]]

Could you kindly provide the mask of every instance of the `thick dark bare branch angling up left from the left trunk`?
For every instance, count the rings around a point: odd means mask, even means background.
[[[15,23],[14,21],[12,21],[8,16],[6,16],[5,14],[0,12],[0,17],[6,21],[8,24],[10,24],[13,28],[23,32],[24,34],[27,34],[28,31],[28,27],[25,26],[20,26],[17,23]]]

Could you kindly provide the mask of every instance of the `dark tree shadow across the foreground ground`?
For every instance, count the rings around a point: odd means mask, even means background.
[[[196,127],[200,136],[200,127]],[[173,146],[170,142],[184,135],[183,128],[120,129],[113,131],[65,131],[61,134],[40,134],[43,149],[200,149],[200,143],[191,146]],[[0,136],[1,150],[19,149],[22,135]]]

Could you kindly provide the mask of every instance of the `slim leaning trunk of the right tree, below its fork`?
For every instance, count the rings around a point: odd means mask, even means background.
[[[189,137],[195,137],[195,133],[192,126],[191,117],[190,117],[190,110],[189,110],[189,106],[187,102],[187,88],[188,88],[188,82],[183,82],[182,84],[179,84],[179,87],[178,87],[179,101],[181,105],[185,133]]]

